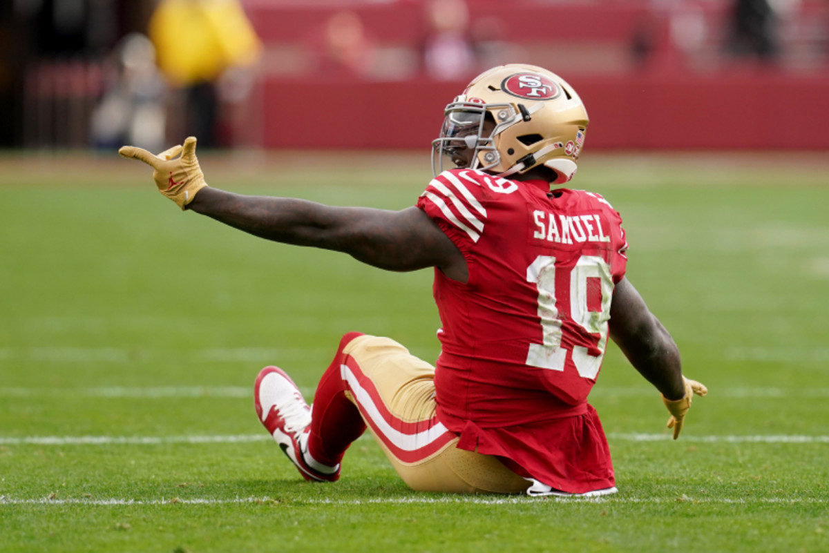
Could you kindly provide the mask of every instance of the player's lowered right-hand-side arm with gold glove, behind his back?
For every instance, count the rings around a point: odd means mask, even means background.
[[[610,337],[633,367],[662,393],[671,413],[668,428],[679,437],[694,394],[705,396],[707,388],[682,376],[679,349],[656,315],[647,309],[642,296],[627,278],[613,291],[610,305]]]

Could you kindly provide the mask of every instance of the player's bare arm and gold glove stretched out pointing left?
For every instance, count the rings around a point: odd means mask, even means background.
[[[158,190],[182,209],[192,209],[246,233],[275,242],[345,252],[390,271],[440,267],[467,281],[466,259],[429,216],[402,211],[334,207],[308,200],[240,195],[207,186],[196,159],[196,139],[158,156],[125,146],[121,156],[153,166]],[[180,158],[175,158],[179,153]],[[171,184],[172,183],[172,184]]]

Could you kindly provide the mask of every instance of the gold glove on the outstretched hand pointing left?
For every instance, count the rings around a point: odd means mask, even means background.
[[[183,147],[174,146],[162,151],[158,156],[134,146],[121,147],[118,153],[126,158],[141,160],[153,167],[153,179],[158,191],[182,209],[187,209],[187,204],[193,201],[196,193],[207,185],[196,159],[196,137],[187,137]],[[182,156],[176,157],[179,154]]]

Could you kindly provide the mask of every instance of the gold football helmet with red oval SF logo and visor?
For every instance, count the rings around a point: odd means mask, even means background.
[[[500,65],[446,106],[432,171],[443,171],[447,158],[498,176],[543,165],[554,184],[564,184],[575,174],[588,123],[584,103],[560,76],[536,65]]]

